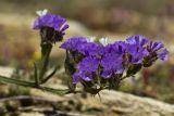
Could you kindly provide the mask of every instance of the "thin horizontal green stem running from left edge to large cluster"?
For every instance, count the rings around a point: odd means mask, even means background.
[[[51,92],[51,93],[54,93],[54,94],[59,94],[59,95],[64,95],[64,94],[71,93],[69,89],[61,90],[61,89],[41,87],[41,86],[36,85],[35,82],[27,82],[27,81],[24,81],[24,80],[8,78],[8,77],[4,77],[4,76],[0,76],[0,81],[7,82],[7,83],[14,83],[14,85],[17,85],[17,86],[23,86],[23,87],[30,87],[30,88],[39,89],[39,90],[42,90],[42,91]]]

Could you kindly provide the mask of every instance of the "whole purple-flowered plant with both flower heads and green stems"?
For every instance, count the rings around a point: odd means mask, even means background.
[[[141,68],[149,67],[157,60],[166,61],[169,51],[161,41],[149,41],[142,35],[134,35],[125,41],[108,42],[108,38],[71,37],[60,48],[66,52],[64,68],[69,76],[66,90],[42,86],[57,72],[49,74],[49,61],[52,47],[63,40],[69,28],[66,18],[44,12],[37,12],[33,28],[40,33],[41,60],[34,63],[35,81],[23,81],[0,76],[0,81],[16,83],[44,91],[66,94],[75,93],[76,86],[97,94],[103,89],[117,89],[123,79],[134,76]],[[57,48],[58,49],[58,48]]]

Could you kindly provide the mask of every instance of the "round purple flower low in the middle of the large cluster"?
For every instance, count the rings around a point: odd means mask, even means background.
[[[103,67],[101,74],[103,78],[111,78],[113,75],[122,74],[124,70],[123,57],[122,55],[108,53],[101,60],[101,66]]]

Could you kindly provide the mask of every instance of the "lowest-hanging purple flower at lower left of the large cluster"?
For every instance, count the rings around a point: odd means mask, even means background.
[[[73,75],[73,83],[77,83],[80,79],[85,81],[92,80],[92,74],[98,69],[99,61],[94,57],[85,57],[76,66],[78,72]]]

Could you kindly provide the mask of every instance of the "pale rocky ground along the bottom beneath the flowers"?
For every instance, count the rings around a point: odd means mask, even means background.
[[[2,72],[4,76],[10,76],[12,69],[1,67],[1,75]],[[58,79],[49,81],[47,86],[64,88]],[[8,93],[10,87],[1,86],[1,93],[2,91]],[[86,93],[55,95],[29,89],[27,95],[1,96],[0,114],[4,116],[174,116],[174,105],[120,91],[103,90],[100,95],[94,96]]]

